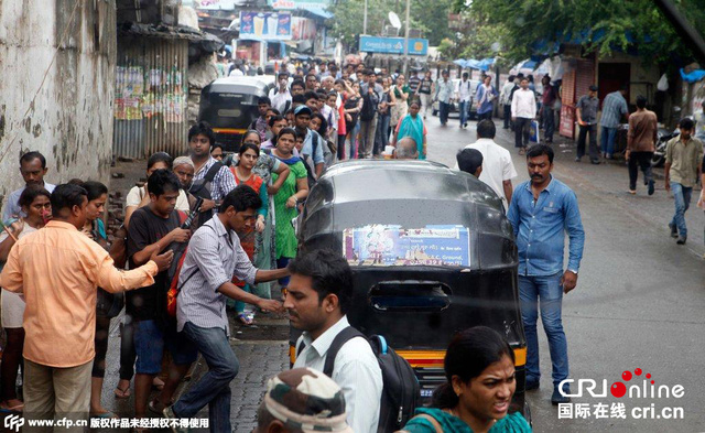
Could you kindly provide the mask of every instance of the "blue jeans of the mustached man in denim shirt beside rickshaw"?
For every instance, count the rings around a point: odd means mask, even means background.
[[[551,364],[553,365],[553,386],[568,377],[568,345],[563,332],[561,307],[563,288],[562,272],[550,277],[519,275],[519,300],[521,303],[521,320],[524,323],[527,336],[527,379],[539,380],[539,336],[536,321],[539,306],[541,307],[541,323],[549,339]]]

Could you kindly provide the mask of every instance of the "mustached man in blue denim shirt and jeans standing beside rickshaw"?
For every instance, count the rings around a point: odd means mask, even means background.
[[[585,231],[575,193],[551,175],[553,150],[536,144],[527,151],[530,181],[517,187],[507,217],[514,228],[519,250],[519,297],[521,318],[527,335],[527,390],[539,388],[539,338],[536,320],[541,304],[541,322],[549,339],[553,364],[553,404],[570,399],[558,391],[568,377],[568,353],[561,304],[563,294],[575,289],[583,258]],[[563,271],[563,250],[567,231],[568,267]],[[563,391],[568,393],[568,388]]]

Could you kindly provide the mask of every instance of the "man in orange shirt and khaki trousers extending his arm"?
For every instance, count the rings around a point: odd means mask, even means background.
[[[119,271],[98,243],[78,231],[86,223],[86,191],[58,185],[53,220],[20,239],[0,274],[0,285],[23,293],[24,413],[36,419],[85,419],[95,357],[97,288],[121,292],[154,283],[173,252]]]

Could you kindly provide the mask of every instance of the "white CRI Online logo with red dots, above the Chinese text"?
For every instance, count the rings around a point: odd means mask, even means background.
[[[609,387],[609,392],[618,399],[621,399],[627,394],[629,398],[636,399],[668,399],[671,397],[680,399],[685,396],[685,391],[682,385],[675,385],[673,387],[669,387],[668,385],[660,385],[659,387],[657,387],[655,380],[651,378],[651,374],[643,375],[644,379],[641,381],[641,383],[638,383],[637,377],[641,377],[643,371],[641,370],[641,368],[636,368],[633,370],[633,375],[629,370],[622,372],[621,380],[631,385],[627,387],[621,381],[616,381],[611,385],[611,387]],[[631,382],[632,379],[634,379],[633,382]],[[607,397],[607,379],[603,379],[601,392],[598,389],[598,383],[593,379],[578,379],[577,391],[575,393],[563,391],[564,386],[568,383],[575,383],[575,380],[565,379],[558,385],[558,390],[564,397],[583,397],[583,390],[587,391],[587,393],[589,393],[592,397]]]

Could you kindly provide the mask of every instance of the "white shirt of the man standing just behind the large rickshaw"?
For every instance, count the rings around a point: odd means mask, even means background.
[[[509,151],[490,139],[478,139],[473,144],[466,145],[465,149],[476,149],[482,154],[480,182],[492,188],[502,199],[505,209],[509,209],[502,182],[517,177],[517,170],[514,170],[514,163],[511,161]],[[457,163],[455,170],[458,170]]]

